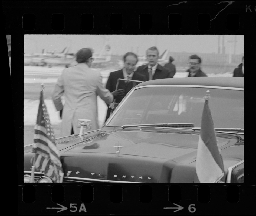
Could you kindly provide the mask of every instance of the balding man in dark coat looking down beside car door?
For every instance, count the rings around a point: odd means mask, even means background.
[[[129,80],[138,80],[138,81],[146,81],[146,77],[144,75],[141,75],[139,73],[134,73],[135,66],[138,62],[138,57],[133,52],[127,52],[123,56],[124,60],[124,67],[121,70],[117,70],[114,72],[111,72],[109,75],[109,78],[107,80],[106,89],[108,89],[110,92],[118,92],[118,95],[115,98],[116,103],[120,103],[121,100],[124,98],[124,96],[139,82],[133,82]],[[127,81],[119,80],[117,85],[117,79],[127,79]],[[116,90],[117,88],[117,90]],[[115,96],[115,95],[114,95]],[[107,104],[109,106],[109,104]],[[107,116],[105,119],[105,122],[109,118],[111,112],[113,110],[111,108],[108,108],[107,110]]]

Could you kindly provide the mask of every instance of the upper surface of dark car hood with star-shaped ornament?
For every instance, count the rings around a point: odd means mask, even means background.
[[[221,134],[218,136],[218,146],[234,144],[237,142],[236,138],[237,136]],[[198,139],[198,132],[124,129],[102,133],[71,147],[67,152],[142,156],[191,163],[196,160]],[[180,160],[184,155],[186,158]]]

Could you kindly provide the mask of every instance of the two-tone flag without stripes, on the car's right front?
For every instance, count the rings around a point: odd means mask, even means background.
[[[204,183],[221,182],[224,176],[223,161],[217,145],[208,99],[205,99],[202,113],[196,156],[196,174],[198,180]]]

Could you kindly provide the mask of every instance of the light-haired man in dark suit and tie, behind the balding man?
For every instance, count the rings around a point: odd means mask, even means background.
[[[139,66],[136,73],[144,75],[147,80],[172,78],[168,68],[157,63],[159,52],[155,46],[147,49],[146,57],[148,64]]]

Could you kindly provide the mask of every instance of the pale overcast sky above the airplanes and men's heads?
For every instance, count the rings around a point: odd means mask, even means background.
[[[24,35],[24,53],[41,53],[42,49],[61,52],[66,46],[70,47],[70,53],[85,47],[94,48],[98,53],[107,41],[114,55],[133,51],[142,56],[151,46],[157,46],[160,54],[165,49],[169,52],[218,53],[218,38],[222,50],[222,35]],[[233,54],[234,48],[236,54],[244,54],[244,35],[224,35],[224,46],[227,54]]]

